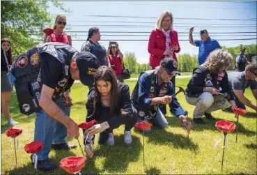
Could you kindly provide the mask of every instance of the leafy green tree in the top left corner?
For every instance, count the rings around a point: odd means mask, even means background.
[[[1,38],[10,40],[14,56],[38,44],[36,38],[43,38],[43,29],[54,19],[47,12],[49,3],[69,12],[57,1],[1,1]]]

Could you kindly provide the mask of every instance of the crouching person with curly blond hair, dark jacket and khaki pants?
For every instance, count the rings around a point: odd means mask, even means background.
[[[205,124],[203,114],[207,119],[214,119],[211,112],[231,105],[236,107],[226,73],[231,61],[232,56],[228,51],[215,50],[205,63],[194,70],[187,84],[186,100],[196,106],[193,114],[195,123]]]

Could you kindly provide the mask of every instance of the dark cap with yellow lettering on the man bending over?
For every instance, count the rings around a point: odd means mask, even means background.
[[[100,64],[91,52],[77,54],[76,63],[79,68],[79,79],[86,86],[93,86],[94,75]]]

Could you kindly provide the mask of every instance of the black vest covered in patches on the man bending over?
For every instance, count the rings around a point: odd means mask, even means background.
[[[63,73],[55,87],[52,100],[57,100],[65,90],[70,89],[74,80],[70,80],[69,66],[75,50],[70,45],[63,43],[44,43],[32,47],[27,52],[17,56],[11,72],[16,77],[15,89],[19,102],[20,112],[30,115],[42,108],[39,106],[40,92],[42,89],[40,76],[40,63],[42,54],[50,54],[63,65]],[[68,83],[72,82],[72,83]]]

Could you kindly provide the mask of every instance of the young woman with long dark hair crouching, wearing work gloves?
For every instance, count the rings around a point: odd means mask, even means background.
[[[89,158],[93,157],[93,140],[100,133],[99,144],[114,145],[113,130],[125,125],[124,142],[132,143],[130,130],[137,122],[137,111],[130,101],[130,89],[127,84],[118,82],[114,71],[101,66],[94,75],[94,88],[88,93],[86,102],[86,121],[97,121],[84,131],[85,151]]]

